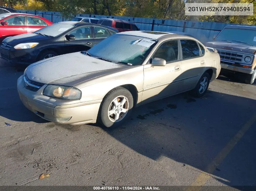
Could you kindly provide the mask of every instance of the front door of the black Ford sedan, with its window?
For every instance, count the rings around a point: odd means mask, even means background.
[[[92,27],[79,27],[72,30],[69,34],[75,35],[75,40],[65,39],[66,53],[88,50],[94,45],[94,39],[91,32]]]

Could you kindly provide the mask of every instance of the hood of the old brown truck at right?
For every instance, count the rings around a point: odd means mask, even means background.
[[[235,52],[248,53],[253,54],[256,51],[256,46],[250,46],[243,43],[228,43],[223,41],[212,41],[204,44],[207,47],[223,49],[223,50],[231,50]]]

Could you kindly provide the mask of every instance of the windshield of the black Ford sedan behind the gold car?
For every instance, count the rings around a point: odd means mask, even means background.
[[[44,27],[40,30],[37,30],[34,33],[36,33],[36,34],[40,33],[42,35],[46,35],[46,36],[50,36],[50,37],[56,37],[59,34],[62,34],[65,31],[67,31],[68,29],[71,29],[73,27],[75,27],[75,25],[73,25],[73,24],[55,23],[55,24],[49,25],[47,27]]]

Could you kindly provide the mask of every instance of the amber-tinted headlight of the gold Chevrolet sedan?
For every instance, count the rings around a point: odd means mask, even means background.
[[[81,99],[82,92],[74,87],[48,85],[43,91],[43,94],[49,97],[56,97],[64,100]]]

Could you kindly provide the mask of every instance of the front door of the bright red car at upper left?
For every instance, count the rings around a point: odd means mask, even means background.
[[[1,35],[3,37],[27,33],[25,16],[13,16],[5,19],[4,21],[8,24],[1,26]]]

